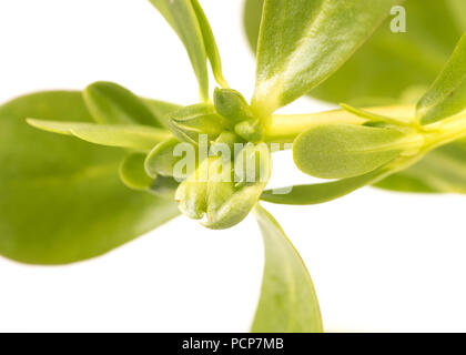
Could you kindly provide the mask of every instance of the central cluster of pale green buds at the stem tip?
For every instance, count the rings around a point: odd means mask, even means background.
[[[244,98],[217,89],[214,104],[185,106],[169,115],[168,125],[174,138],[152,150],[146,172],[176,180],[180,211],[206,227],[240,223],[257,203],[272,168],[262,124]]]

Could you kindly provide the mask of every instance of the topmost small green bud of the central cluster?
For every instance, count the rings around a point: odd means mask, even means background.
[[[233,89],[215,89],[214,105],[216,112],[234,123],[254,118],[246,100]]]

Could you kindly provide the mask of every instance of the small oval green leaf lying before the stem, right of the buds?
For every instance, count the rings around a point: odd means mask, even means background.
[[[405,134],[392,129],[330,124],[296,138],[293,156],[306,174],[323,179],[353,178],[394,160],[406,148]]]

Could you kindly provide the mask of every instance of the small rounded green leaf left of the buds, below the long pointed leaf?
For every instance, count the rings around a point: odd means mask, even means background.
[[[145,190],[152,184],[153,179],[144,170],[145,154],[130,153],[120,165],[120,179],[133,190]]]

